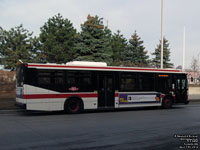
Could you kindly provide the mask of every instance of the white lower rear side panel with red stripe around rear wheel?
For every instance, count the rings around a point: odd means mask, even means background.
[[[22,91],[22,88],[20,88]],[[64,110],[65,101],[72,96],[83,96],[84,109],[97,109],[97,94],[84,93],[60,93],[48,89],[24,85],[23,98],[17,98],[19,103],[26,104],[27,110],[58,111]],[[88,97],[87,97],[88,96]]]

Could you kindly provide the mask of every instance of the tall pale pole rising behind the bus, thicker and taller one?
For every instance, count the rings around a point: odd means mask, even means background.
[[[161,55],[160,55],[161,69],[163,69],[163,43],[164,43],[164,0],[161,1]]]

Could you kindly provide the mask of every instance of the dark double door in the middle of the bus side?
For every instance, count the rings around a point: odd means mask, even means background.
[[[112,74],[100,74],[98,77],[98,108],[114,107],[114,81]]]

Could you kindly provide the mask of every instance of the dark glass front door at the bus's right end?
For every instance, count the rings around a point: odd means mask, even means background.
[[[187,103],[187,80],[186,78],[177,78],[176,79],[176,102],[177,103]]]

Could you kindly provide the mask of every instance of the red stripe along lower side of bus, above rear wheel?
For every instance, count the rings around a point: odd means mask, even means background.
[[[79,96],[81,98],[97,98],[98,94],[97,93],[92,93],[92,94],[76,94],[76,93],[71,93],[71,94],[24,94],[23,98],[24,99],[42,99],[42,98],[68,98],[70,96]],[[115,93],[115,97],[118,97],[119,94]]]

